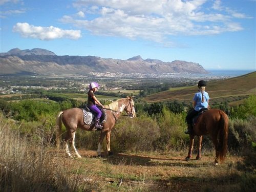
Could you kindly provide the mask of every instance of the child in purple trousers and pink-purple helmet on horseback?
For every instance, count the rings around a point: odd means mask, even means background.
[[[100,130],[101,125],[99,123],[99,119],[101,117],[102,112],[97,108],[96,104],[100,105],[101,108],[103,108],[103,105],[99,102],[99,100],[94,95],[94,92],[98,90],[98,87],[99,85],[97,82],[91,82],[89,85],[90,90],[88,91],[88,108],[97,114],[96,120],[95,120],[95,127],[98,130]]]

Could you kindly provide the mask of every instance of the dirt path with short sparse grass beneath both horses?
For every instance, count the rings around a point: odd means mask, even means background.
[[[238,164],[243,158],[228,156],[214,165],[213,153],[202,160],[185,161],[186,153],[116,153],[98,158],[96,152],[79,149],[82,159],[65,156],[66,165],[81,173],[81,181],[98,184],[92,191],[239,191]],[[63,154],[65,155],[65,154]],[[64,157],[64,156],[63,156]],[[78,171],[79,170],[79,171]],[[121,183],[121,185],[120,185]]]

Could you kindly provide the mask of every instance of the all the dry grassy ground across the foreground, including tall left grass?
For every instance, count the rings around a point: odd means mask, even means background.
[[[201,161],[185,161],[186,151],[113,156],[103,152],[98,158],[95,151],[79,148],[82,159],[76,159],[68,158],[63,148],[28,142],[11,126],[1,119],[1,191],[255,190],[253,154],[228,156],[217,167],[213,152],[204,152]]]

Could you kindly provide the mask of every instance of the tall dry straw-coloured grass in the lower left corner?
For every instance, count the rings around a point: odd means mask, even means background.
[[[92,185],[79,183],[81,175],[63,168],[49,145],[28,142],[13,126],[19,125],[1,117],[0,191],[91,191]]]

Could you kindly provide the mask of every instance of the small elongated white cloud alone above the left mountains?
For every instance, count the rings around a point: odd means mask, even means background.
[[[17,23],[13,26],[13,32],[20,33],[26,38],[37,38],[40,40],[53,40],[56,38],[78,39],[81,37],[80,30],[63,30],[57,27],[40,27],[28,23]]]

